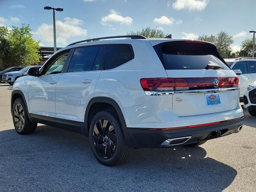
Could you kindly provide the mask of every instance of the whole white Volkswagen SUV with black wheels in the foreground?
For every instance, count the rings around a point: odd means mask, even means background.
[[[54,65],[62,67],[48,72]],[[243,125],[238,77],[208,42],[84,40],[28,74],[12,88],[16,131],[29,134],[42,123],[82,133],[107,166],[132,148],[198,146]]]

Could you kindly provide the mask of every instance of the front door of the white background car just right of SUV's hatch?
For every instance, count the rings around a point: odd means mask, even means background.
[[[232,70],[239,69],[242,71],[241,75],[238,75],[240,82],[240,97],[244,96],[247,86],[250,84],[250,74],[248,73],[248,67],[246,61],[240,61],[234,64]]]

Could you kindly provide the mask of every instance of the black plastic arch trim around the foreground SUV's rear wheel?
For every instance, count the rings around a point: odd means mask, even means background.
[[[89,121],[90,110],[91,110],[91,107],[94,104],[97,104],[97,103],[108,104],[108,105],[112,106],[114,108],[114,110],[116,110],[116,113],[118,115],[118,118],[120,120],[122,129],[123,129],[123,132],[124,132],[124,137],[125,137],[126,143],[128,145],[130,145],[130,139],[129,139],[127,126],[126,126],[126,122],[125,122],[122,110],[121,110],[120,106],[118,105],[118,103],[115,100],[113,100],[112,98],[108,98],[108,97],[94,97],[88,102],[88,105],[87,105],[86,111],[85,111],[85,116],[84,116],[84,132],[85,132],[86,136],[89,135],[89,129],[90,129],[90,125],[89,125],[89,123],[90,123],[90,121]]]

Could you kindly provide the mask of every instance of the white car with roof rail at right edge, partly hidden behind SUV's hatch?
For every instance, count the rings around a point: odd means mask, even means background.
[[[256,81],[256,58],[239,57],[224,60],[232,70],[240,70],[242,72],[242,74],[238,75],[240,82],[240,100],[242,100],[248,85]]]

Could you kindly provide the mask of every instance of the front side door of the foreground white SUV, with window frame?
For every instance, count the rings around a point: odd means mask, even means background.
[[[41,76],[34,77],[30,83],[29,108],[30,113],[55,117],[55,91],[56,84],[60,78],[63,66],[66,64],[69,56],[69,50],[62,52],[47,62],[40,70]],[[52,66],[58,65],[59,70],[48,73]]]

